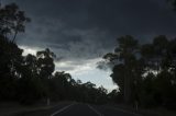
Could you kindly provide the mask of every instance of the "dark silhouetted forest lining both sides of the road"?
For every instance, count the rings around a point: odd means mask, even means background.
[[[38,101],[78,101],[95,104],[125,103],[141,107],[176,108],[176,38],[160,35],[140,44],[131,35],[117,39],[114,53],[103,56],[111,65],[119,90],[74,80],[55,71],[57,57],[48,48],[22,56],[15,43],[31,20],[15,3],[0,7],[0,101],[33,104]]]

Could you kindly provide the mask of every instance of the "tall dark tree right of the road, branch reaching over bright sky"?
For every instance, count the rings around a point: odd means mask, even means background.
[[[113,67],[112,80],[118,83],[120,91],[123,93],[125,103],[131,98],[131,85],[133,84],[134,66],[136,62],[138,40],[127,35],[118,38],[118,47],[114,53],[107,54],[103,58],[110,62],[118,61]]]

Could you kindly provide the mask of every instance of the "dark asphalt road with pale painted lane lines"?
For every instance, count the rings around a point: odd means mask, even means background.
[[[142,116],[112,106],[89,105],[82,103],[59,104],[51,109],[42,109],[14,116]]]

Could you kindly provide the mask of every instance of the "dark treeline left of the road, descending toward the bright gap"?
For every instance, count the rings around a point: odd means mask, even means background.
[[[15,3],[0,7],[0,101],[26,105],[46,100],[105,103],[105,88],[76,81],[64,71],[54,73],[56,56],[48,48],[22,56],[15,38],[30,21]]]

